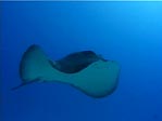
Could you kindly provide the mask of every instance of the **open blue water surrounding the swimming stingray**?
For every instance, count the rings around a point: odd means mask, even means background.
[[[2,121],[162,121],[162,2],[0,2]],[[53,59],[92,50],[121,65],[95,99],[66,84],[21,83],[24,51]]]

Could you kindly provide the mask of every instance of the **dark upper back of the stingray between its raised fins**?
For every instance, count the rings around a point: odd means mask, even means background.
[[[60,71],[66,73],[74,73],[80,71],[88,65],[99,59],[105,62],[104,58],[102,58],[99,55],[96,55],[96,53],[94,53],[92,51],[83,51],[70,54],[59,60],[55,60],[54,63],[53,62],[50,63],[54,68],[59,69]]]

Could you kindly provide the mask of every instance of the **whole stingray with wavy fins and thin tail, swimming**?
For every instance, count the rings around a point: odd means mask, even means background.
[[[39,45],[33,44],[21,59],[20,86],[37,81],[61,82],[97,98],[114,92],[119,73],[116,62],[104,59],[92,51],[75,52],[51,60]]]

